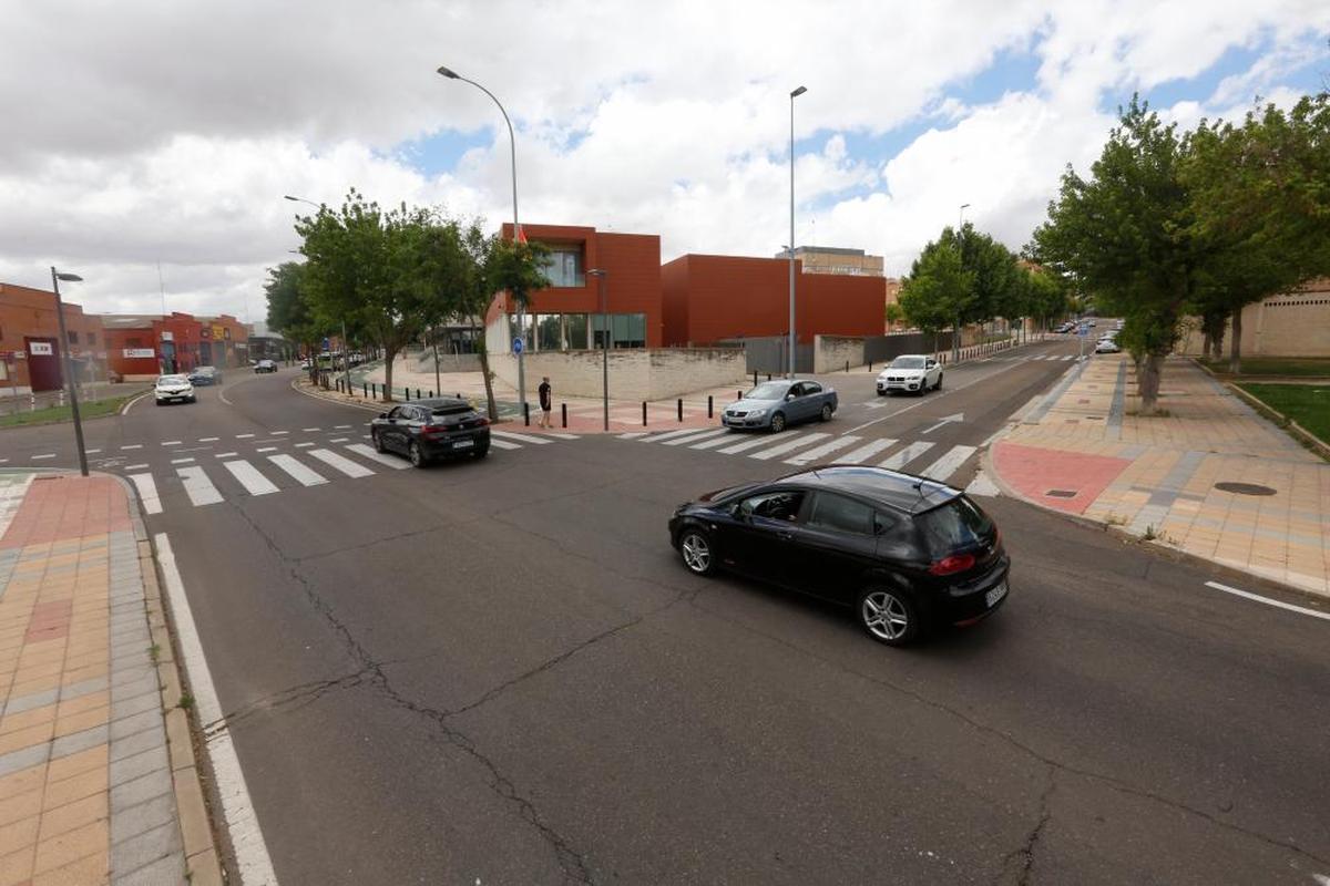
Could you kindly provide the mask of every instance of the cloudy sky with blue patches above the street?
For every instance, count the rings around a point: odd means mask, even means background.
[[[966,219],[1019,248],[1140,92],[1241,117],[1330,85],[1325,0],[0,0],[0,282],[90,311],[262,319],[299,205],[356,187],[656,232],[661,258],[799,244],[906,271]],[[158,276],[158,264],[161,276]]]

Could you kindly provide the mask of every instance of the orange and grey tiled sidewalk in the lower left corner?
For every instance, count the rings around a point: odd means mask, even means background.
[[[221,883],[121,482],[0,473],[0,886]]]

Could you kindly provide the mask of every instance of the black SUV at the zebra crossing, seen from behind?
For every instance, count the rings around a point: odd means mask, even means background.
[[[402,453],[416,468],[424,468],[435,458],[484,458],[489,453],[489,420],[456,397],[415,400],[379,413],[370,422],[370,437],[379,452]]]

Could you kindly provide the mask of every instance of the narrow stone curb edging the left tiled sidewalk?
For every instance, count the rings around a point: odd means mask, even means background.
[[[161,687],[166,749],[176,794],[181,845],[185,851],[185,877],[192,886],[221,886],[226,879],[222,875],[218,841],[214,838],[213,817],[205,800],[203,772],[194,753],[197,724],[181,707],[185,695],[181,688],[184,679],[174,646],[174,631],[169,624],[170,612],[165,607],[161,594],[157,553],[140,513],[141,502],[133,484],[116,474],[101,472],[93,472],[93,474],[114,478],[125,489],[129,501],[133,502],[130,522],[134,527],[134,542],[138,545],[138,570],[144,579],[148,632],[152,636],[153,647],[158,650],[156,659],[157,683]]]

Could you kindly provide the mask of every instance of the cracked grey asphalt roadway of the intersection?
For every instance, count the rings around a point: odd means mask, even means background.
[[[801,433],[934,442],[922,470],[1069,365],[956,367],[880,406],[867,375],[829,376],[843,409]],[[352,453],[375,473],[351,478],[301,453],[346,453],[367,413],[290,377],[89,424],[106,469],[156,477],[148,526],[172,539],[283,883],[1330,875],[1323,620],[986,498],[1011,599],[888,650],[669,547],[674,505],[787,456],[583,437],[426,472]],[[5,432],[0,454],[59,464],[65,434]],[[226,448],[277,491],[217,468]],[[265,461],[281,454],[329,482]],[[173,480],[196,466],[221,502]]]

